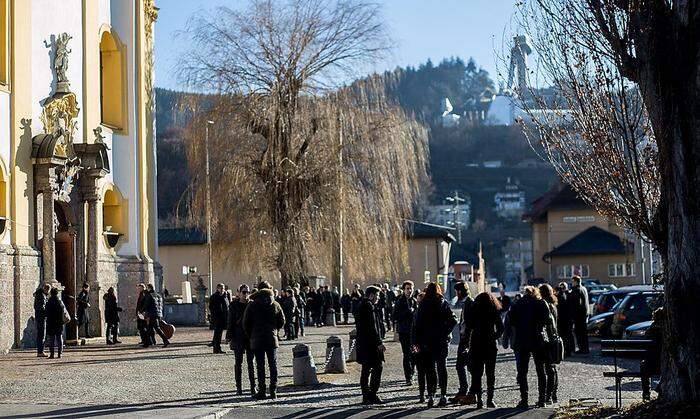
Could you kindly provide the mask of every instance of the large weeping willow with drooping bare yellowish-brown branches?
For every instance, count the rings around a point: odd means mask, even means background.
[[[213,240],[239,266],[282,284],[329,272],[343,243],[354,278],[397,274],[405,223],[427,183],[427,133],[387,101],[379,78],[333,89],[389,48],[378,7],[363,1],[251,1],[199,13],[184,35],[190,86],[216,92],[194,109],[192,166],[210,129]],[[203,170],[195,181],[203,184]],[[195,190],[194,217],[203,216]]]

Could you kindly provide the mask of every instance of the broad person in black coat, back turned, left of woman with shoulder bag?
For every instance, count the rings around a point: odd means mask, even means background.
[[[515,352],[515,367],[518,371],[517,382],[520,387],[520,403],[518,408],[527,408],[528,384],[527,370],[530,357],[535,362],[537,373],[537,390],[539,392],[538,407],[544,407],[546,399],[547,380],[544,371],[546,361],[545,327],[549,319],[549,309],[542,300],[539,290],[533,286],[525,287],[525,294],[514,303],[508,312],[508,322],[513,328],[512,341]]]

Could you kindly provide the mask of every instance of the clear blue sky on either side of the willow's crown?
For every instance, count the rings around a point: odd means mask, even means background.
[[[497,79],[494,53],[501,54],[502,39],[510,33],[515,0],[378,0],[397,48],[384,61],[364,72],[417,65],[428,58],[474,57]],[[174,34],[192,13],[219,5],[237,6],[244,0],[160,0],[156,24],[156,85],[180,90],[173,67],[187,48]]]

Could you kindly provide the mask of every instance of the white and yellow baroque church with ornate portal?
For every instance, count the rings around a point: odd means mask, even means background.
[[[33,346],[33,294],[159,284],[153,0],[0,0],[0,352]],[[78,338],[75,320],[66,328]]]

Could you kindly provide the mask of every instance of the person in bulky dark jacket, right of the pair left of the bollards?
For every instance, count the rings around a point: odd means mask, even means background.
[[[267,281],[258,284],[258,291],[243,314],[243,330],[250,337],[250,349],[255,354],[258,392],[254,398],[265,399],[265,359],[270,368],[270,398],[277,398],[277,331],[284,326],[282,307],[273,299],[272,287]]]

